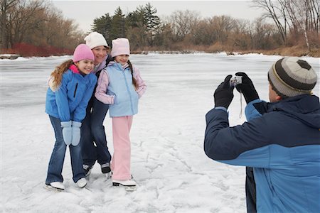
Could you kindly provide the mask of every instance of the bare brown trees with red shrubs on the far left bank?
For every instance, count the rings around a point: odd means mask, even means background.
[[[70,54],[83,40],[75,21],[48,1],[0,0],[0,12],[1,53]]]

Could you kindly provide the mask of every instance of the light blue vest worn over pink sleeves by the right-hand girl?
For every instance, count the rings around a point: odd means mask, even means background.
[[[132,84],[129,67],[123,68],[120,63],[114,62],[106,70],[109,77],[107,94],[115,97],[114,104],[109,107],[110,117],[137,114],[139,95]]]

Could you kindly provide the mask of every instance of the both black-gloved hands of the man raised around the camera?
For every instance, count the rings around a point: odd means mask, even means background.
[[[249,103],[255,99],[259,98],[255,86],[252,83],[252,80],[245,74],[245,72],[235,73],[235,78],[232,79],[232,75],[225,77],[224,82],[222,82],[217,89],[213,97],[215,99],[215,107],[225,107],[228,109],[232,100],[233,100],[233,89],[234,87],[238,92],[242,93],[245,97],[245,102]],[[235,79],[241,77],[240,82],[234,82]]]

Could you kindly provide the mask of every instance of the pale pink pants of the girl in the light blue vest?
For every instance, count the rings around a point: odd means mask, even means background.
[[[112,117],[113,156],[111,162],[113,180],[130,180],[131,142],[129,138],[133,116]]]

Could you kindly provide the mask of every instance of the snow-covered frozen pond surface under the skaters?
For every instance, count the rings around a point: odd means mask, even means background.
[[[132,126],[132,174],[137,190],[112,187],[95,168],[87,187],[72,180],[67,151],[65,192],[43,189],[55,137],[44,112],[46,80],[68,57],[0,60],[0,212],[245,212],[245,168],[210,160],[203,152],[205,115],[226,75],[247,72],[260,98],[279,56],[221,54],[132,55],[148,86]],[[305,58],[320,77],[320,59]],[[319,96],[319,83],[314,89]],[[245,121],[245,100],[230,105],[230,125]],[[242,106],[242,107],[241,107]],[[112,126],[105,119],[108,145]]]

